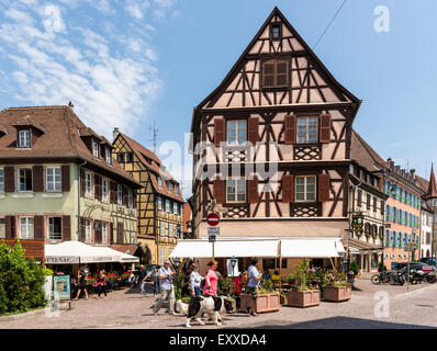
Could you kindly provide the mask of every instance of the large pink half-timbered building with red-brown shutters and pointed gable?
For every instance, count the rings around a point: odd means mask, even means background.
[[[194,109],[194,235],[345,238],[359,105],[276,8]]]

